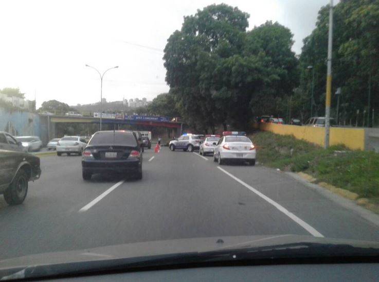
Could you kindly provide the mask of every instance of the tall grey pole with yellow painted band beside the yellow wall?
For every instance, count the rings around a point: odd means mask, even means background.
[[[327,93],[325,99],[325,140],[324,148],[329,147],[329,127],[330,127],[330,102],[332,92],[332,43],[333,43],[333,0],[329,5],[329,37],[328,37],[328,73],[327,73]]]

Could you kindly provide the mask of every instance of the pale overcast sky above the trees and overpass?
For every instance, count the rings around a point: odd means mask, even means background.
[[[168,92],[163,49],[181,29],[183,16],[226,3],[250,14],[249,30],[268,20],[294,34],[293,51],[315,28],[318,10],[329,0],[246,1],[0,1],[0,89],[19,87],[37,101],[69,105],[103,98],[152,100]]]

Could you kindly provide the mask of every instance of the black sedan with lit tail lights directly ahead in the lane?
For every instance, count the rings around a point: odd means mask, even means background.
[[[94,173],[135,174],[142,179],[142,154],[136,134],[131,131],[98,131],[82,154],[82,176]]]

